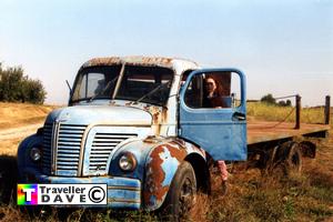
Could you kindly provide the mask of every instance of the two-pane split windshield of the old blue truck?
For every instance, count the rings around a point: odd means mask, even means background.
[[[87,68],[78,75],[71,101],[112,99],[119,84],[114,99],[165,105],[172,80],[173,70],[161,67],[125,65],[123,73],[121,65]]]

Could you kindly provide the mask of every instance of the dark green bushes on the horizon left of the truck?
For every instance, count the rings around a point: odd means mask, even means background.
[[[0,63],[0,101],[42,104],[47,91],[40,80],[24,75],[21,67],[2,68]]]

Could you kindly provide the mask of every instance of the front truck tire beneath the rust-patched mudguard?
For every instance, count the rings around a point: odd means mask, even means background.
[[[184,161],[180,164],[171,182],[163,203],[162,215],[170,221],[180,221],[186,216],[195,202],[196,179],[192,165]]]

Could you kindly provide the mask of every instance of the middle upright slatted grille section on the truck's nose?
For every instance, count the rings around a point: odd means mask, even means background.
[[[77,175],[85,125],[60,124],[57,140],[57,175]]]

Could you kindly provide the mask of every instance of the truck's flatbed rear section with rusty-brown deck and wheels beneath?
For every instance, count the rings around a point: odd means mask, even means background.
[[[302,123],[295,129],[292,122],[249,121],[248,165],[269,173],[282,169],[285,175],[300,171],[303,157],[315,158],[316,145],[307,138],[326,138],[329,131],[329,124]]]

